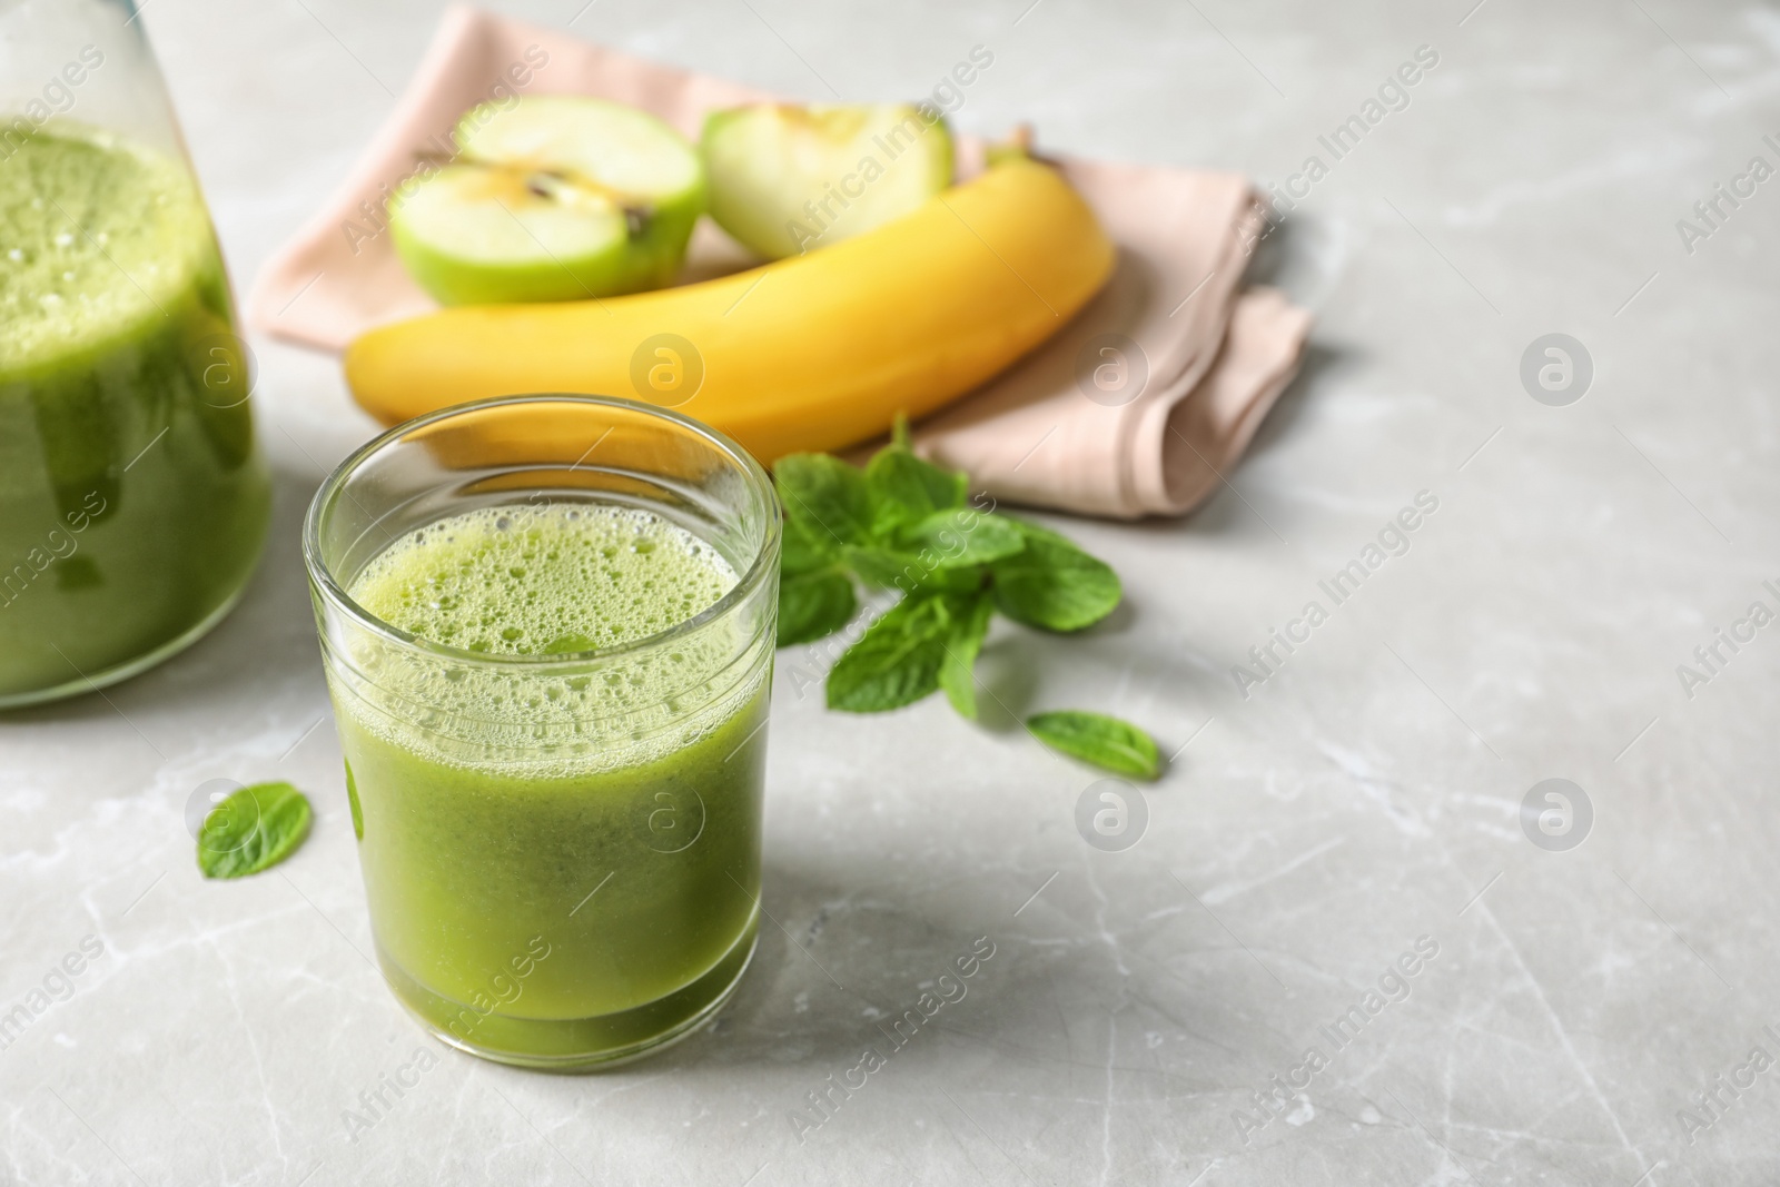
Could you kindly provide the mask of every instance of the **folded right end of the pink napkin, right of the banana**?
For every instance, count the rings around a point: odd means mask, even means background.
[[[1007,502],[1121,520],[1185,513],[1298,372],[1310,315],[1271,288],[1237,299],[1260,231],[1242,178],[1063,169],[1120,244],[1112,279],[1057,336],[929,418],[915,448]]]

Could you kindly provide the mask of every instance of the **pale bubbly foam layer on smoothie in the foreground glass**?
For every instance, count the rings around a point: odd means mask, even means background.
[[[490,658],[571,657],[659,635],[739,580],[662,516],[573,502],[484,507],[408,532],[347,593],[433,642]],[[737,683],[732,662],[753,650],[737,630],[719,619],[671,646],[548,669],[452,666],[367,642],[354,690],[381,707],[368,728],[433,758],[609,769],[671,753],[748,701],[758,680]]]

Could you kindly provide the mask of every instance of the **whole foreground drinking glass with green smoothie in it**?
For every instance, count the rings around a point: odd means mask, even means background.
[[[395,997],[550,1070],[708,1020],[760,918],[760,464],[630,400],[465,404],[342,463],[303,545]]]

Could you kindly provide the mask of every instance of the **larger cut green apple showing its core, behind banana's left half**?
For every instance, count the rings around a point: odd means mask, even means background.
[[[680,271],[705,171],[655,116],[527,96],[473,109],[456,142],[390,203],[395,251],[440,304],[607,297]]]

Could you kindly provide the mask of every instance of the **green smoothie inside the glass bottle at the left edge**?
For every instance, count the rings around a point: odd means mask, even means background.
[[[0,324],[4,707],[196,639],[253,571],[271,484],[180,160],[44,130],[0,162]]]

